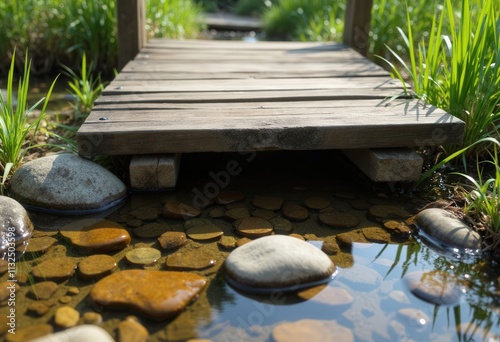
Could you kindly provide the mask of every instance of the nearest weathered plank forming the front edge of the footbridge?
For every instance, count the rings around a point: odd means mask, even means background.
[[[416,100],[364,111],[263,111],[228,117],[233,113],[198,110],[189,118],[186,110],[124,111],[106,121],[92,113],[77,141],[83,155],[375,148],[435,144],[436,135],[440,143],[456,143],[464,129],[462,121]]]

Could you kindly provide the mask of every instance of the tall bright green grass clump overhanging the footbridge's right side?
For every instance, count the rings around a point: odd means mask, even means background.
[[[472,7],[464,0],[460,19],[455,22],[453,4],[445,0],[443,12],[434,14],[428,39],[418,44],[414,43],[413,22],[407,10],[407,34],[398,30],[408,58],[388,47],[411,80],[416,97],[465,122],[462,147],[486,137],[500,137],[500,8],[494,0],[484,1],[480,19],[474,23]],[[449,35],[443,33],[446,23]],[[398,66],[382,59],[404,84]],[[473,146],[466,150],[467,156],[484,149],[481,144]]]

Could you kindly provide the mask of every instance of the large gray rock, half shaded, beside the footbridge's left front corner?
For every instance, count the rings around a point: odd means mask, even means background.
[[[47,210],[103,210],[127,195],[125,184],[106,168],[74,154],[38,158],[12,177],[11,196]]]

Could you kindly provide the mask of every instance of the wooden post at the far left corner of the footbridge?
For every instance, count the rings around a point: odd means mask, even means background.
[[[117,0],[118,71],[134,59],[146,43],[145,0]]]

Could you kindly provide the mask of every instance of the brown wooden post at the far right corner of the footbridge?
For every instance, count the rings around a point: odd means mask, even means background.
[[[373,0],[347,0],[344,24],[344,43],[364,56],[370,45],[370,20]]]

